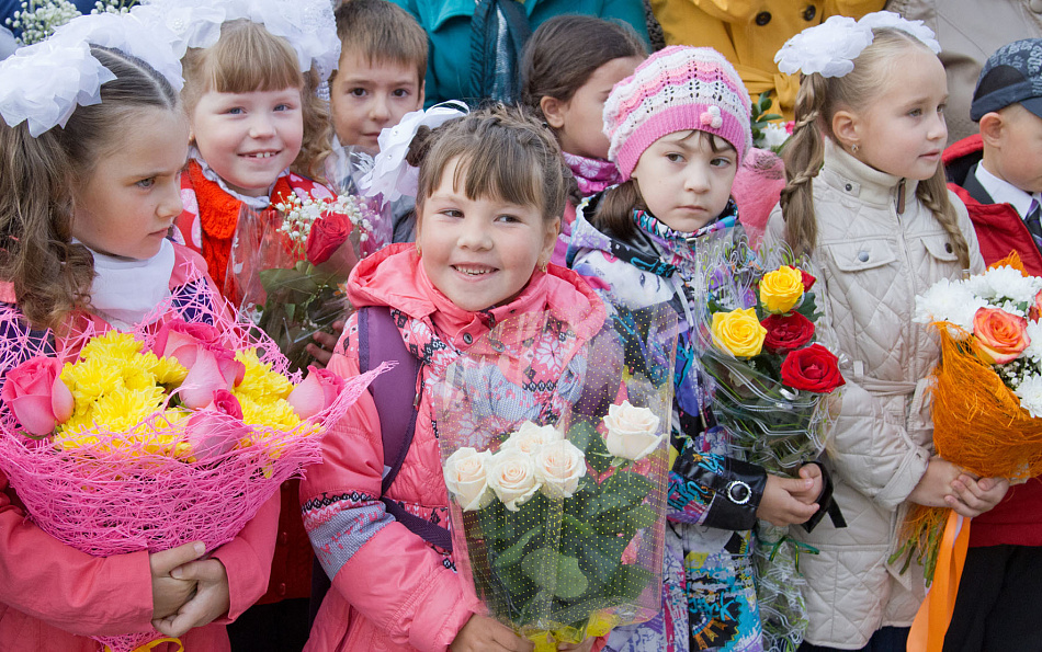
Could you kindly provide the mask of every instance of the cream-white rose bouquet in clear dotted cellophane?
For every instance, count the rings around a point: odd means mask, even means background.
[[[537,651],[661,608],[676,313],[494,328],[439,386],[457,569]]]

